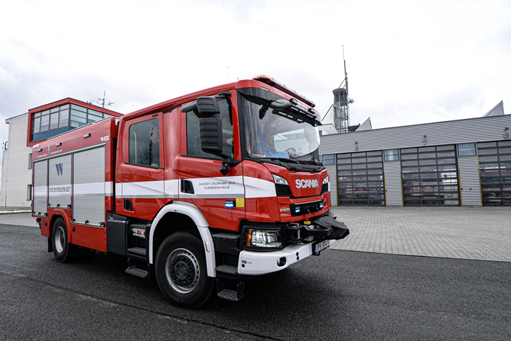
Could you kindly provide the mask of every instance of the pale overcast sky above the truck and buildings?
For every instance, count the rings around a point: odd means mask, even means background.
[[[348,69],[350,124],[511,110],[511,1],[0,0],[5,119],[62,98],[129,113],[269,74],[322,115]],[[0,156],[1,158],[1,156]]]

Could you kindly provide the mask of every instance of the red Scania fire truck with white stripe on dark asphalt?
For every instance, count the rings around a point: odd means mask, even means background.
[[[96,250],[196,308],[319,255],[331,213],[314,103],[269,76],[84,125],[33,146],[33,216],[59,262]]]

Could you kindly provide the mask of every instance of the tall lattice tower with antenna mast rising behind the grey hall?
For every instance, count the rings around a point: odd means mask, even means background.
[[[333,91],[333,104],[328,108],[326,114],[330,112],[333,107],[333,124],[338,132],[350,132],[350,103],[355,102],[353,98],[348,97],[348,72],[346,72],[346,59],[344,57],[343,45],[343,60],[344,60],[344,79],[339,87]],[[326,117],[323,116],[323,118]]]

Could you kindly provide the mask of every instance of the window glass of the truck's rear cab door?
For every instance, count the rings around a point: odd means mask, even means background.
[[[130,163],[141,166],[160,166],[158,119],[130,126]]]

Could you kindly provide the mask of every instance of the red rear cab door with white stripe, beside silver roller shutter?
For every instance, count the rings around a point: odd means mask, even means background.
[[[124,162],[117,175],[120,188],[116,190],[122,203],[116,207],[117,213],[152,220],[166,203],[161,116],[159,113],[139,117],[127,121],[123,127],[120,143]]]

